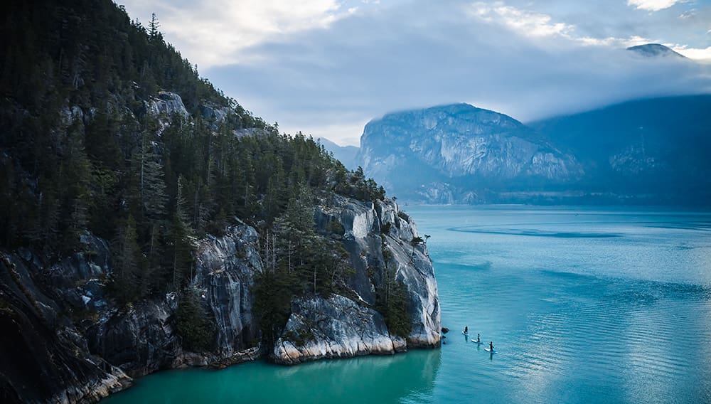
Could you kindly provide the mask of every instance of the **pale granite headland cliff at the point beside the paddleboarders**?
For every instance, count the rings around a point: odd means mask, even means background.
[[[272,356],[277,363],[293,364],[321,358],[392,354],[408,348],[440,344],[440,309],[432,260],[419,238],[415,223],[392,201],[363,203],[336,197],[316,208],[321,227],[343,225],[343,243],[355,273],[349,285],[352,298],[299,299]],[[407,289],[412,331],[391,334],[383,316],[372,309],[376,288],[388,270]]]

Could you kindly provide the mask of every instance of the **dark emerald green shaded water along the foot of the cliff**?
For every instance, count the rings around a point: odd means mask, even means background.
[[[102,404],[117,403],[397,403],[432,393],[442,351],[363,356],[278,366],[264,361],[220,371],[163,371],[140,378]]]

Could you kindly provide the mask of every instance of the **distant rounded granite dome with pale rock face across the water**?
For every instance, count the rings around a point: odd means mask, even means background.
[[[570,183],[577,159],[498,112],[467,104],[396,112],[369,122],[358,161],[398,196],[436,203],[486,202],[520,184]]]

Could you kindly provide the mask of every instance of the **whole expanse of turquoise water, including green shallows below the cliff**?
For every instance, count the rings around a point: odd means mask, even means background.
[[[407,211],[432,235],[442,349],[166,371],[104,403],[711,403],[711,214]]]

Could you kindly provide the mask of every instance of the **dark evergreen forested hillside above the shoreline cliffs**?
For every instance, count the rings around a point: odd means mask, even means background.
[[[343,248],[316,232],[313,206],[336,192],[384,198],[362,171],[215,90],[156,18],[143,26],[108,0],[1,7],[2,247],[60,257],[87,230],[110,240],[106,281],[125,304],[180,292],[194,241],[240,218],[290,275],[279,277],[279,321],[292,295],[342,282]]]

